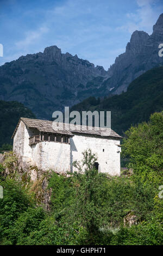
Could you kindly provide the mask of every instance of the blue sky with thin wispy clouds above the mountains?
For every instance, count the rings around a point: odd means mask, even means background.
[[[1,0],[0,65],[57,45],[106,70],[137,30],[152,33],[162,0]]]

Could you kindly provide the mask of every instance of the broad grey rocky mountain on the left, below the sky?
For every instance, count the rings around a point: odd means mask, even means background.
[[[57,46],[44,52],[27,54],[0,68],[0,100],[16,100],[32,109],[37,118],[51,118],[56,110],[72,106],[91,95],[95,88],[87,83],[107,72],[102,66],[94,66],[77,55],[62,54]]]

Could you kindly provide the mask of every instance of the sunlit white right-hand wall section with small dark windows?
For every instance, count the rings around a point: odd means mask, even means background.
[[[71,163],[83,158],[82,152],[91,149],[97,155],[99,172],[109,173],[110,175],[120,175],[120,151],[118,147],[120,140],[92,135],[75,135],[70,138],[71,143]],[[104,152],[103,152],[104,149]],[[74,172],[76,168],[72,167]]]

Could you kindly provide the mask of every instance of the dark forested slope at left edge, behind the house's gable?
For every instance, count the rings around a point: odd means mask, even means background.
[[[12,133],[20,117],[35,118],[35,115],[17,101],[0,101],[0,153],[11,150],[8,144],[12,144]]]

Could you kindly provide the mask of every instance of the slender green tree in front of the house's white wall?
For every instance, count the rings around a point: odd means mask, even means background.
[[[73,219],[80,220],[80,226],[85,229],[84,239],[87,243],[102,242],[104,234],[100,228],[109,218],[106,203],[107,179],[105,174],[98,173],[95,168],[96,161],[96,155],[88,149],[83,152],[81,162],[73,163],[74,167],[78,168],[78,172],[74,173],[76,198],[71,215]]]

